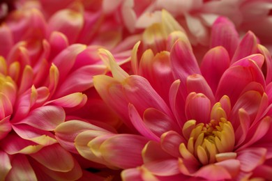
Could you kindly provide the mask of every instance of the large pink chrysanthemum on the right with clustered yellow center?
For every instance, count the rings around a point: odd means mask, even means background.
[[[211,48],[197,60],[181,26],[162,15],[133,48],[133,74],[100,49],[112,76],[97,75],[93,83],[126,127],[70,120],[56,127],[57,139],[121,169],[122,180],[271,179],[269,51],[251,31],[239,40],[234,24],[219,17]],[[144,36],[155,26],[160,32]]]

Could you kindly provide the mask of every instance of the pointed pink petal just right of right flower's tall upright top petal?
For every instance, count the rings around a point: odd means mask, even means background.
[[[250,54],[254,54],[255,52],[257,52],[257,38],[254,33],[248,31],[237,47],[231,63],[234,63],[245,56],[249,56]]]

